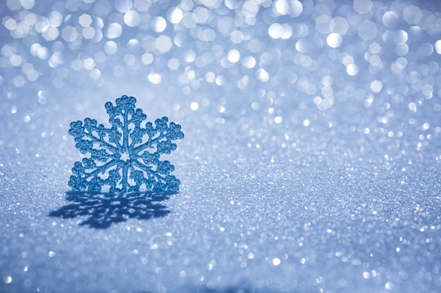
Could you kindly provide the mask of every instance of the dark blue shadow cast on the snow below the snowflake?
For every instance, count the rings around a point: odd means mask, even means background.
[[[63,219],[85,217],[80,226],[95,229],[110,228],[112,223],[128,219],[149,220],[166,216],[168,207],[160,202],[168,200],[172,192],[97,193],[69,191],[66,200],[73,202],[49,212],[49,216]]]

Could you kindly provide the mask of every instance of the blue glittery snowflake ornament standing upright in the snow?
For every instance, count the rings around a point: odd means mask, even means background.
[[[180,125],[168,118],[142,123],[147,116],[135,110],[136,98],[122,96],[116,106],[107,102],[111,128],[97,120],[86,118],[70,123],[69,134],[75,138],[75,147],[89,154],[82,162],[75,162],[68,185],[73,190],[101,191],[108,186],[111,193],[146,190],[177,192],[180,181],[170,175],[175,167],[161,161],[162,154],[176,149],[173,141],[184,138]]]

